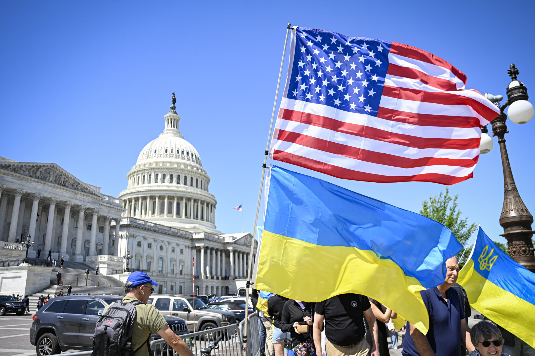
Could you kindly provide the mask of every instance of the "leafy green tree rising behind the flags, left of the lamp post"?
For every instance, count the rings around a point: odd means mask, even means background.
[[[449,195],[449,188],[446,188],[446,193],[437,196],[430,196],[429,201],[424,200],[422,202],[422,210],[420,213],[430,219],[438,221],[444,224],[449,230],[453,232],[457,241],[464,247],[470,240],[470,236],[476,231],[477,225],[475,223],[468,224],[468,218],[461,218],[462,211],[458,209],[458,194],[455,196]],[[457,259],[460,259],[462,250],[457,255]],[[466,262],[470,251],[465,252],[462,260],[459,260],[459,267],[462,268]]]

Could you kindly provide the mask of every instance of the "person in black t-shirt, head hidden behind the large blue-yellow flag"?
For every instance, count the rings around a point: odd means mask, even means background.
[[[373,336],[371,347],[364,338],[366,329],[363,317],[368,321]],[[312,327],[316,350],[322,347],[324,319],[327,356],[364,356],[370,351],[371,356],[379,356],[377,320],[368,297],[348,293],[316,303]]]

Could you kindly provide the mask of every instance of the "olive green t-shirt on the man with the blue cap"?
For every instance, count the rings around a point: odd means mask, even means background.
[[[131,303],[138,300],[134,297],[124,297],[123,303]],[[139,301],[139,300],[138,300]],[[113,304],[112,304],[113,305]],[[104,308],[104,313],[111,305]],[[163,315],[152,304],[140,304],[135,306],[136,317],[132,326],[132,350],[137,349],[147,341],[150,335],[155,334],[167,325]],[[149,340],[150,346],[150,340]],[[149,356],[147,345],[143,345],[136,356]]]

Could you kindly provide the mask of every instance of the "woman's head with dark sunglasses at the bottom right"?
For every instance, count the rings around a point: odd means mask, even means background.
[[[503,337],[495,323],[482,320],[472,327],[470,338],[476,350],[470,356],[509,356],[502,352]]]

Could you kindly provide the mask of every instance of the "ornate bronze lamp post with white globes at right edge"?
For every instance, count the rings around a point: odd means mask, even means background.
[[[516,262],[535,272],[535,257],[533,256],[533,244],[531,236],[535,231],[531,230],[533,216],[522,201],[518,189],[516,188],[513,172],[507,155],[505,145],[505,134],[507,130],[507,115],[503,113],[506,107],[509,107],[507,114],[509,119],[517,124],[524,124],[533,117],[533,106],[528,100],[528,89],[516,76],[519,74],[514,64],[509,66],[507,73],[511,77],[511,82],[507,86],[507,101],[503,106],[500,105],[502,96],[493,96],[485,94],[487,99],[494,102],[500,108],[500,115],[492,122],[492,136],[498,136],[500,144],[500,153],[503,166],[503,183],[505,192],[503,197],[503,209],[500,215],[500,225],[503,227],[503,236],[507,239],[509,255]],[[483,128],[481,153],[486,153],[492,149],[492,139],[486,135],[486,128]],[[489,140],[490,139],[490,140]],[[490,141],[490,143],[489,143]]]

